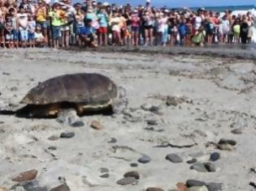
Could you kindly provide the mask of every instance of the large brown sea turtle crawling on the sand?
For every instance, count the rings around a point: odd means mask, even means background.
[[[102,74],[64,74],[33,87],[17,115],[58,117],[60,110],[76,109],[79,116],[90,112],[122,112],[128,101],[123,87],[117,87]]]

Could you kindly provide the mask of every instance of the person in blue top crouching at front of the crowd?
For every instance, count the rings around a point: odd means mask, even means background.
[[[93,21],[92,19],[85,20],[85,28],[81,28],[80,30],[80,41],[86,46],[96,48],[98,47],[96,43],[96,35],[95,29],[92,27]]]

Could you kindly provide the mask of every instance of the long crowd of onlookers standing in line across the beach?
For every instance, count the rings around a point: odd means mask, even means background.
[[[85,0],[0,0],[2,48],[251,43],[254,15]]]

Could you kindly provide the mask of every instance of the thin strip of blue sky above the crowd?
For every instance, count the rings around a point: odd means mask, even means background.
[[[132,3],[132,5],[145,4],[145,0],[108,0],[119,4]],[[256,0],[151,0],[154,6],[238,6],[256,5]]]

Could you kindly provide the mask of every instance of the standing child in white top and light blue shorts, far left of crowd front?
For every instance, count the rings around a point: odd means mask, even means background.
[[[20,6],[20,13],[17,14],[21,46],[25,48],[28,41],[28,14],[25,13],[24,6]]]

